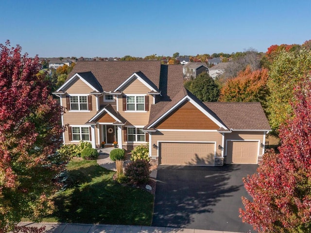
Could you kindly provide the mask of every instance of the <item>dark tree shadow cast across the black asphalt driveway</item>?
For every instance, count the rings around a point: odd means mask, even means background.
[[[242,188],[228,183],[239,166],[159,166],[153,226],[187,227],[195,216],[213,213],[213,206]],[[205,219],[204,221],[207,221]]]

